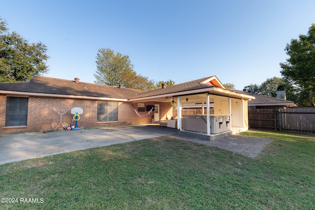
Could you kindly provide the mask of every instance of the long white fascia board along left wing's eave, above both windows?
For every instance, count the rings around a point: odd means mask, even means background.
[[[39,92],[22,92],[11,90],[0,90],[2,94],[8,95],[27,95],[27,96],[43,96],[43,97],[58,97],[58,98],[76,98],[76,99],[92,99],[92,100],[108,100],[108,101],[128,101],[122,98],[105,98],[105,97],[92,97],[83,95],[63,95],[63,94],[51,94],[51,93],[39,93]]]

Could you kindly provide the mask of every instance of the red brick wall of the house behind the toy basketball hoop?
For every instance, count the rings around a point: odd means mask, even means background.
[[[0,95],[0,132],[18,132],[18,131],[44,131],[52,129],[52,122],[54,128],[60,123],[61,115],[59,113],[65,113],[62,116],[63,125],[70,124],[72,122],[73,114],[71,109],[73,107],[81,107],[83,114],[80,115],[78,120],[79,127],[91,127],[91,126],[107,126],[112,124],[126,124],[126,123],[148,123],[151,122],[152,112],[149,116],[140,118],[136,115],[134,109],[138,111],[138,103],[131,102],[119,102],[118,106],[118,122],[97,122],[97,100],[88,99],[68,99],[58,97],[41,97],[30,96],[28,106],[28,122],[27,126],[19,127],[4,127],[5,125],[5,105],[6,96]],[[147,105],[154,105],[155,102],[145,102]],[[159,103],[160,104],[160,119],[165,119],[166,114],[172,112],[171,103]],[[56,111],[57,112],[56,112]],[[148,111],[140,112],[140,114],[146,114]],[[75,123],[75,121],[74,121]],[[63,125],[60,124],[58,129],[63,129]]]

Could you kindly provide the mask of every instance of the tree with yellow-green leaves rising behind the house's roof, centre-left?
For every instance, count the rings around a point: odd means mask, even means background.
[[[154,82],[147,77],[137,75],[133,70],[129,56],[115,54],[110,48],[100,48],[96,56],[96,84],[118,86],[139,90],[152,90]]]

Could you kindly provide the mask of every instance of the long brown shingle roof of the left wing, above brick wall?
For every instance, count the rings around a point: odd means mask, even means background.
[[[0,93],[126,100],[141,90],[34,76],[28,83],[1,83]]]

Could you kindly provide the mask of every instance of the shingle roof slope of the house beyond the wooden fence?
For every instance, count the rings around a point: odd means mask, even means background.
[[[233,91],[255,96],[255,99],[248,101],[248,105],[251,105],[251,104],[283,104],[283,105],[294,104],[294,101],[284,100],[281,98],[275,98],[275,97],[271,97],[267,95],[261,95],[261,94],[246,92],[242,90],[233,90]]]

